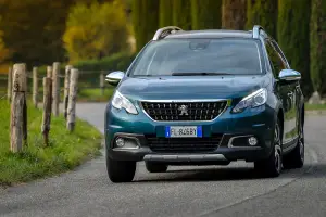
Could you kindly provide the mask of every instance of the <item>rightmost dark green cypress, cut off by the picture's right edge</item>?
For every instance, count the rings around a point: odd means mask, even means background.
[[[326,1],[312,0],[310,29],[311,79],[314,89],[326,95]]]

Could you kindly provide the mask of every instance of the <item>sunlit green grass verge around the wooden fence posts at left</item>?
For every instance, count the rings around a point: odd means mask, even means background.
[[[50,145],[45,148],[41,111],[28,103],[27,146],[18,154],[10,152],[10,104],[0,100],[0,186],[30,181],[73,169],[83,162],[99,155],[101,133],[80,119],[75,131],[65,129],[65,120],[51,117]]]

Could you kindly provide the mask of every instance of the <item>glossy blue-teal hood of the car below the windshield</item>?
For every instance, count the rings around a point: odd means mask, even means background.
[[[260,76],[125,77],[117,90],[133,100],[235,99],[269,85]]]

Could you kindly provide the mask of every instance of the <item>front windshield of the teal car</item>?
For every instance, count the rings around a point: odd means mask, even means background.
[[[130,68],[130,76],[262,74],[258,40],[165,39],[153,41]]]

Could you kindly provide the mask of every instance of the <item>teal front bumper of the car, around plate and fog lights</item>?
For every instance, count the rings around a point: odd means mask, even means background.
[[[272,153],[274,131],[274,110],[261,106],[230,114],[226,110],[214,122],[191,123],[160,123],[153,122],[145,114],[129,115],[125,111],[117,111],[110,105],[106,108],[105,150],[108,157],[115,161],[150,161],[167,164],[228,164],[231,161],[255,162],[267,158]],[[164,152],[154,151],[148,141],[148,136],[164,138],[164,127],[173,125],[200,125],[203,138],[221,135],[222,139],[216,149],[210,151]],[[237,142],[233,145],[233,138],[254,136],[259,143],[250,146]],[[114,143],[117,137],[135,139],[134,148],[117,148]],[[243,140],[246,141],[246,140]]]

